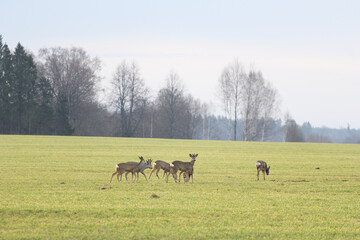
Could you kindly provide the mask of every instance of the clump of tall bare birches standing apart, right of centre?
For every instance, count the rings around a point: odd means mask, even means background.
[[[219,82],[225,112],[234,123],[233,139],[241,115],[242,139],[263,140],[267,121],[276,112],[276,90],[264,80],[261,71],[250,70],[247,74],[237,60],[223,70]]]

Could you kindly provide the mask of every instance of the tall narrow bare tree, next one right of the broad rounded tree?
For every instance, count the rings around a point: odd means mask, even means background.
[[[132,137],[143,120],[148,101],[148,89],[139,67],[124,60],[116,69],[112,85],[112,103],[120,114],[120,136]]]

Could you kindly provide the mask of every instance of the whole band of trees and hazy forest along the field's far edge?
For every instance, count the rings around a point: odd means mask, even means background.
[[[274,142],[360,143],[360,130],[298,125],[279,115],[279,96],[261,71],[236,60],[224,67],[219,93],[224,115],[184,89],[169,72],[151,93],[140,67],[114,69],[107,101],[99,101],[101,62],[81,48],[12,51],[0,35],[0,134],[75,135]],[[155,96],[155,97],[152,97]]]

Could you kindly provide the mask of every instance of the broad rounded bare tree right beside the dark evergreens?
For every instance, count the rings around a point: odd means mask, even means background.
[[[57,104],[67,104],[66,116],[75,129],[74,133],[82,134],[78,130],[89,120],[84,112],[86,106],[96,101],[100,61],[90,57],[81,48],[61,47],[41,49],[39,59],[40,77],[49,80]],[[58,114],[56,116],[59,117]],[[61,118],[65,119],[66,116]]]

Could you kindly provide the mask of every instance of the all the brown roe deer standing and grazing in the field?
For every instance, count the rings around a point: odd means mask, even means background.
[[[127,175],[129,173],[131,173],[132,174],[132,177],[131,177],[132,182],[139,180],[139,173],[144,175],[144,177],[147,181],[148,179],[144,173],[144,170],[147,168],[153,169],[150,172],[149,179],[151,178],[151,175],[155,171],[156,171],[156,173],[155,173],[156,176],[160,179],[158,173],[160,170],[163,170],[164,171],[163,178],[166,177],[166,182],[168,182],[170,174],[173,176],[175,183],[180,182],[181,174],[183,174],[184,182],[189,182],[190,178],[191,178],[191,181],[194,182],[194,179],[193,179],[194,164],[195,164],[196,157],[198,156],[198,154],[190,153],[189,156],[191,158],[190,162],[173,161],[172,163],[167,163],[162,160],[157,160],[153,163],[153,165],[151,165],[151,163],[152,163],[151,158],[149,158],[147,161],[145,161],[145,159],[142,156],[140,156],[139,157],[140,162],[126,162],[126,163],[116,164],[115,172],[111,175],[111,178],[110,178],[110,183],[112,181],[112,178],[115,175],[116,175],[118,182],[120,182],[122,179],[123,173],[125,173],[126,180],[127,180]],[[266,172],[266,175],[269,175],[270,166],[267,167],[267,164],[264,161],[257,161],[256,169],[257,169],[257,180],[259,180],[260,171],[263,172],[264,180],[265,180],[265,172]],[[177,177],[177,172],[180,172],[179,180]]]

